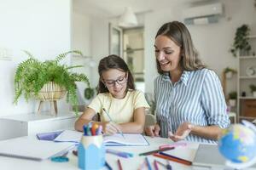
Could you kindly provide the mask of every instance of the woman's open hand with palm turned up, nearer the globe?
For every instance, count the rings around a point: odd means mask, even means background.
[[[190,122],[183,122],[179,127],[177,127],[176,133],[169,132],[169,138],[174,142],[178,140],[185,139],[191,132],[193,125]]]

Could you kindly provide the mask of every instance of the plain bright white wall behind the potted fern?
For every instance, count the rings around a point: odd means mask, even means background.
[[[0,60],[0,116],[33,112],[38,107],[38,101],[26,103],[23,98],[18,105],[12,104],[15,68],[27,59],[21,50],[40,60],[70,50],[71,9],[71,0],[0,1],[0,48],[8,48],[12,55],[11,61]],[[62,100],[58,107],[67,110],[68,105]]]

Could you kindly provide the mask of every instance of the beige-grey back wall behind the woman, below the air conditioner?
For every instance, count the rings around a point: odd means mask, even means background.
[[[217,24],[204,26],[188,26],[195,48],[200,52],[201,59],[220,77],[221,71],[227,66],[236,68],[236,58],[229,53],[235,36],[236,28],[248,24],[252,32],[256,32],[256,10],[254,1],[222,0],[224,17]],[[152,77],[157,76],[154,58],[154,36],[162,24],[172,20],[181,20],[180,11],[184,6],[161,10],[145,16],[145,81],[146,92],[153,92]],[[155,68],[155,69],[152,69]],[[236,90],[236,82],[228,82],[230,91]]]

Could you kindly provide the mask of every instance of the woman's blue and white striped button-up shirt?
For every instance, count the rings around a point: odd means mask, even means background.
[[[167,138],[169,131],[175,133],[183,122],[203,127],[230,125],[223,90],[214,71],[183,71],[175,83],[171,82],[169,73],[160,75],[154,80],[154,98],[161,137]],[[193,134],[186,140],[216,143]]]

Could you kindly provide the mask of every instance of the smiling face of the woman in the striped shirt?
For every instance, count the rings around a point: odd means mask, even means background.
[[[154,42],[155,57],[162,71],[179,71],[181,60],[181,48],[169,37],[158,36]]]

